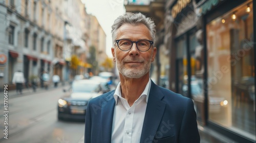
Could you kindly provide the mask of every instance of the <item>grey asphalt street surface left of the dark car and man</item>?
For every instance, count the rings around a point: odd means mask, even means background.
[[[0,142],[83,142],[84,121],[58,121],[57,101],[66,87],[40,89],[8,99],[8,139],[4,138],[5,117],[0,116]],[[11,95],[11,92],[13,95]],[[1,96],[1,101],[4,97]],[[4,102],[0,107],[4,113]]]

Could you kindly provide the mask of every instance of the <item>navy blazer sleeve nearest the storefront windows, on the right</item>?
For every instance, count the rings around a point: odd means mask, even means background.
[[[183,115],[181,129],[179,134],[179,143],[200,142],[200,135],[197,127],[197,115],[194,108],[194,103],[188,99],[187,106]]]

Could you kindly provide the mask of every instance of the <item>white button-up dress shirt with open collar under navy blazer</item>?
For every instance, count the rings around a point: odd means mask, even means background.
[[[126,99],[121,96],[120,83],[117,85],[114,93],[116,105],[112,124],[112,143],[140,142],[150,87],[149,79],[140,97],[130,107]]]

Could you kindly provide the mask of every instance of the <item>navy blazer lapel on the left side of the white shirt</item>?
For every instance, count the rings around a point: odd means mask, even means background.
[[[113,97],[115,91],[109,94],[103,101],[101,106],[101,142],[111,142],[112,123],[115,108],[115,99]]]

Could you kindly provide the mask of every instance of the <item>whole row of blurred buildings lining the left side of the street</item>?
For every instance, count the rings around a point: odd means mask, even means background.
[[[0,1],[0,11],[1,84],[14,88],[17,70],[27,83],[32,76],[41,79],[44,71],[62,82],[71,80],[72,55],[79,59],[76,74],[87,72],[90,19],[80,0]]]

